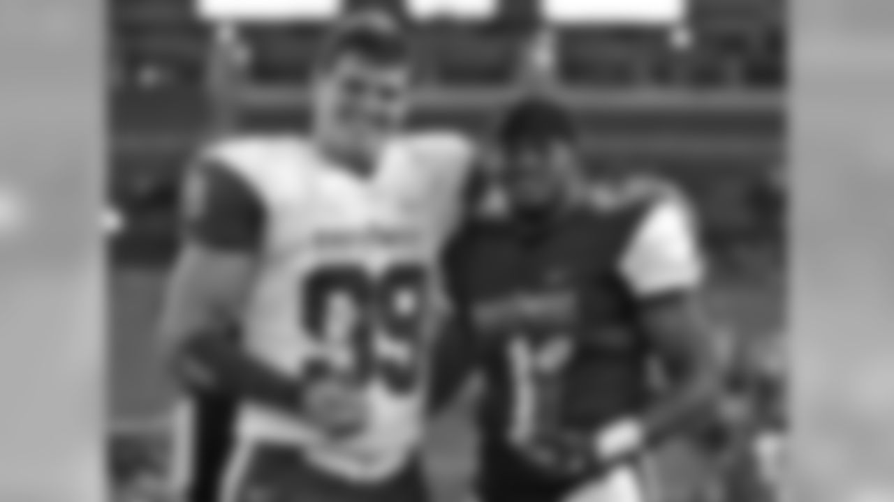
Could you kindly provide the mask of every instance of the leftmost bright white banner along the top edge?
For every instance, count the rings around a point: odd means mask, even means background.
[[[342,0],[197,0],[207,21],[326,20],[342,12]]]

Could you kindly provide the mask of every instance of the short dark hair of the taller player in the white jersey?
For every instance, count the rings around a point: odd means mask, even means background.
[[[339,22],[325,38],[316,67],[327,70],[345,54],[381,64],[411,60],[406,30],[395,18],[379,11],[352,13]]]

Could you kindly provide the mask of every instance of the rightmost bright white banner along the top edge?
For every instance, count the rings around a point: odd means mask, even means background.
[[[561,24],[677,24],[688,0],[544,0],[544,15]]]

